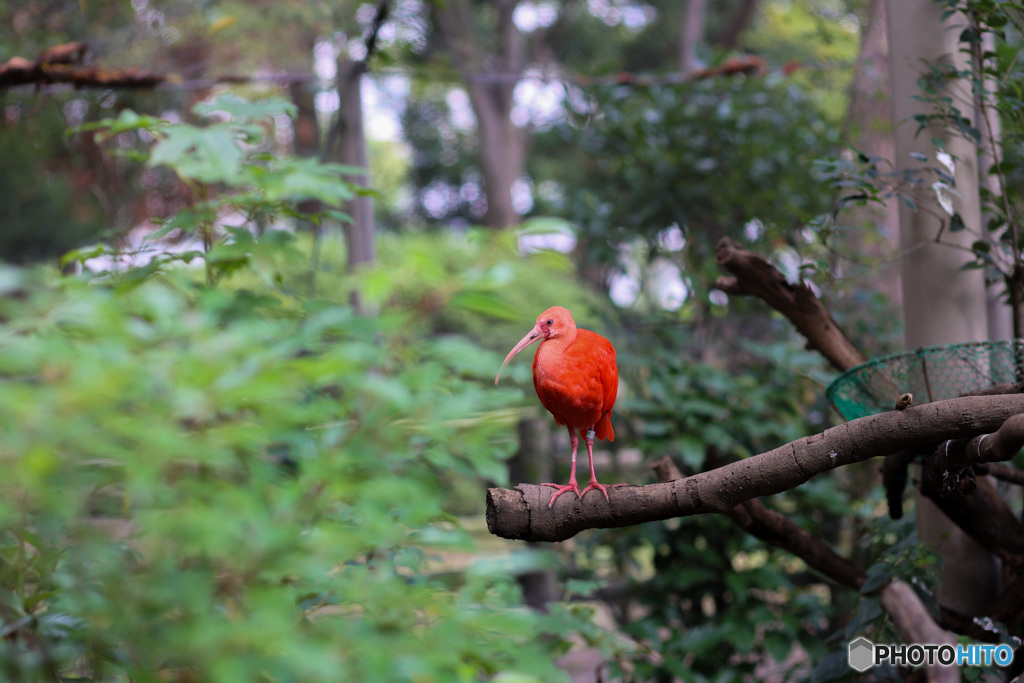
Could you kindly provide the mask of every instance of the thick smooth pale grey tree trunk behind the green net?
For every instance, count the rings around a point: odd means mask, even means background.
[[[922,60],[952,58],[957,60],[958,68],[965,68],[962,62],[966,57],[957,43],[961,31],[953,27],[957,17],[951,16],[943,23],[940,16],[943,7],[933,0],[890,0],[887,9],[890,68],[893,92],[897,93],[893,97],[893,120],[898,122],[897,165],[910,163],[909,153],[934,159],[935,148],[930,140],[932,137],[943,140],[946,152],[959,160],[955,177],[962,198],[954,198],[954,206],[967,225],[980,227],[977,151],[938,124],[915,135],[918,124],[911,119],[927,108],[910,98],[919,92]],[[964,88],[966,84],[952,87]],[[962,101],[972,100],[969,91],[950,94]],[[932,208],[937,215],[945,216],[942,209]],[[914,212],[905,205],[900,206],[899,213],[906,347],[984,339],[988,323],[982,271],[962,270],[968,254],[935,243],[942,227],[936,214]],[[969,247],[972,237],[970,230],[946,230],[943,240]],[[920,495],[918,530],[922,542],[935,548],[944,559],[940,602],[965,614],[984,613],[998,593],[996,560]]]

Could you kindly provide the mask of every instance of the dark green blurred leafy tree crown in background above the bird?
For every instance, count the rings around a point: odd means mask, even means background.
[[[590,96],[596,118],[546,137],[575,163],[535,175],[557,183],[561,198],[539,210],[581,226],[592,264],[624,268],[622,251],[636,241],[674,261],[695,300],[706,300],[720,274],[713,251],[721,237],[752,224],[754,240],[778,240],[826,206],[807,169],[835,143],[836,129],[794,83],[738,78]],[[678,254],[665,248],[672,228],[685,241]]]

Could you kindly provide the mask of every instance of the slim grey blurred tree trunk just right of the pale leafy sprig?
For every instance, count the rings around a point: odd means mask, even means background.
[[[370,160],[367,154],[366,131],[362,127],[362,95],[359,87],[367,71],[364,61],[338,59],[338,145],[337,161],[349,166],[367,169],[367,174],[348,176],[346,179],[364,187],[370,183]],[[360,195],[346,207],[352,222],[345,225],[345,251],[349,270],[377,259],[374,248],[373,200]],[[360,308],[358,296],[353,293],[353,304]]]

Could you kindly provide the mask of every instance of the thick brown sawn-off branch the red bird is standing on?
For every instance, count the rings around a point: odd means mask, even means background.
[[[727,512],[743,501],[788,490],[843,465],[994,431],[1021,413],[1021,394],[935,401],[853,420],[685,479],[613,488],[610,501],[593,492],[582,501],[563,496],[551,510],[549,487],[489,488],[487,528],[506,539],[556,542],[588,528]]]

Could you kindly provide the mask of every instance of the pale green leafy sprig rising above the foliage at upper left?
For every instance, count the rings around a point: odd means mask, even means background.
[[[100,131],[97,137],[101,142],[125,134],[140,142],[154,141],[147,152],[129,148],[122,154],[144,160],[147,167],[166,167],[195,196],[202,198],[171,219],[158,220],[163,227],[147,236],[148,244],[139,252],[129,254],[139,256],[141,252],[146,262],[143,272],[204,256],[207,282],[212,284],[239,267],[258,264],[261,253],[272,257],[290,237],[271,230],[257,243],[248,228],[239,229],[231,224],[265,225],[276,216],[297,217],[297,207],[304,200],[317,200],[326,205],[317,214],[303,213],[306,220],[319,222],[326,216],[349,219],[341,208],[356,191],[364,190],[357,190],[343,176],[360,174],[362,169],[314,159],[271,156],[267,152],[266,120],[293,115],[293,104],[276,98],[249,102],[228,93],[211,102],[199,102],[194,112],[224,120],[199,127],[124,110],[117,119],[89,123],[80,129]],[[154,242],[172,232],[180,239],[197,241],[195,248],[170,249]],[[260,249],[258,244],[269,245],[269,249]],[[84,262],[103,253],[106,250],[79,250],[66,255],[63,260]],[[119,259],[121,250],[112,255]]]

